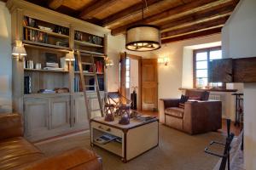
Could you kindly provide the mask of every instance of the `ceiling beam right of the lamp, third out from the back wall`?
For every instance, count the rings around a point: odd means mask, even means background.
[[[215,20],[224,16],[229,16],[235,7],[236,4],[234,3],[224,3],[222,6],[199,11],[195,14],[185,15],[178,20],[168,20],[167,22],[160,24],[160,31],[171,31],[184,26],[193,26],[207,20]]]

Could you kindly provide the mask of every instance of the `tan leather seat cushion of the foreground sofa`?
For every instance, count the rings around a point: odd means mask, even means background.
[[[0,141],[0,169],[15,169],[42,157],[44,154],[38,148],[21,137]]]

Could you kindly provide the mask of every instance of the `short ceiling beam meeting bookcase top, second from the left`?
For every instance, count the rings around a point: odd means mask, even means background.
[[[90,6],[85,7],[79,14],[79,18],[84,20],[91,19],[94,14],[101,12],[103,9],[108,8],[116,2],[118,2],[118,0],[98,0],[96,3],[92,3]]]

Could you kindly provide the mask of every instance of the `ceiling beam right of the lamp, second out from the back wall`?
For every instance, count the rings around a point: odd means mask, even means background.
[[[222,18],[218,18],[215,20],[201,22],[199,24],[195,24],[194,26],[186,26],[186,27],[183,27],[182,29],[176,29],[173,31],[163,32],[163,33],[161,33],[161,39],[178,37],[178,36],[183,36],[183,35],[199,32],[199,31],[206,31],[206,30],[210,30],[213,28],[222,27],[222,26],[224,26],[224,23],[228,19],[229,19],[229,16],[224,16]]]

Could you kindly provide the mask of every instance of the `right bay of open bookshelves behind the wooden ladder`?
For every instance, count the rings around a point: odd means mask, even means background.
[[[94,65],[96,66],[96,74],[99,82],[100,91],[105,90],[105,67],[104,67],[104,37],[99,37],[86,33],[84,31],[75,31],[74,34],[74,48],[79,49],[81,60],[84,63],[83,73],[88,91],[96,91],[96,81],[93,74],[93,67],[91,65],[91,56],[94,57]],[[82,92],[81,81],[79,76],[79,65],[77,56],[74,62],[74,91]]]

